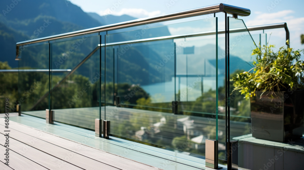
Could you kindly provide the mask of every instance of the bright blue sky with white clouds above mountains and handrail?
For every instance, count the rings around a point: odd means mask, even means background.
[[[250,16],[239,17],[246,26],[265,25],[286,22],[290,32],[290,44],[292,48],[301,49],[300,35],[304,34],[304,1],[295,0],[71,0],[85,12],[95,12],[99,15],[131,15],[136,18],[153,17],[172,12],[184,11],[219,3],[248,8]],[[223,22],[219,22],[219,25]],[[220,26],[219,26],[220,27]],[[276,29],[266,31],[272,33],[270,42],[280,42],[284,45],[285,30]],[[268,36],[269,38],[269,36]],[[302,55],[303,56],[303,55]]]

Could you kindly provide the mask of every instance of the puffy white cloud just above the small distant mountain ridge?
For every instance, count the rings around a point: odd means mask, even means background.
[[[116,10],[111,10],[111,9],[106,9],[105,11],[100,11],[98,12],[99,15],[103,16],[103,15],[130,15],[133,16],[135,18],[146,18],[146,17],[153,17],[153,16],[157,16],[161,14],[161,11],[152,11],[152,12],[148,12],[145,9],[140,9],[140,8],[123,8],[120,11],[116,11]]]

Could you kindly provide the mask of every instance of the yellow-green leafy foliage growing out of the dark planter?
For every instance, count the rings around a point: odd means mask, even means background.
[[[252,55],[257,55],[253,73],[245,71],[237,74],[230,81],[233,82],[234,90],[239,90],[246,99],[255,96],[255,91],[281,91],[294,88],[303,88],[304,61],[299,60],[300,52],[292,48],[281,47],[278,52],[272,48],[275,46],[257,47]]]

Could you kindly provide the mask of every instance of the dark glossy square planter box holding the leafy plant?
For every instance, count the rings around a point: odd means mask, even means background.
[[[256,91],[250,98],[252,137],[285,142],[303,136],[304,90]]]

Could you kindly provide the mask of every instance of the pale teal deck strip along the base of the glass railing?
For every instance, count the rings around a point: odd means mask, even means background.
[[[136,160],[157,168],[175,170],[204,169],[205,159],[202,158],[167,151],[161,148],[154,148],[145,144],[129,142],[119,138],[113,138],[111,140],[98,138],[95,137],[94,131],[60,123],[45,124],[44,119],[27,115],[13,117],[13,121],[18,122],[17,124],[22,126],[24,126],[24,124],[27,125],[25,127],[36,128],[49,134],[56,134],[68,140],[83,143],[89,147],[98,148],[102,151]],[[90,138],[90,140],[88,140],[88,138]],[[125,154],[126,152],[128,154]]]

